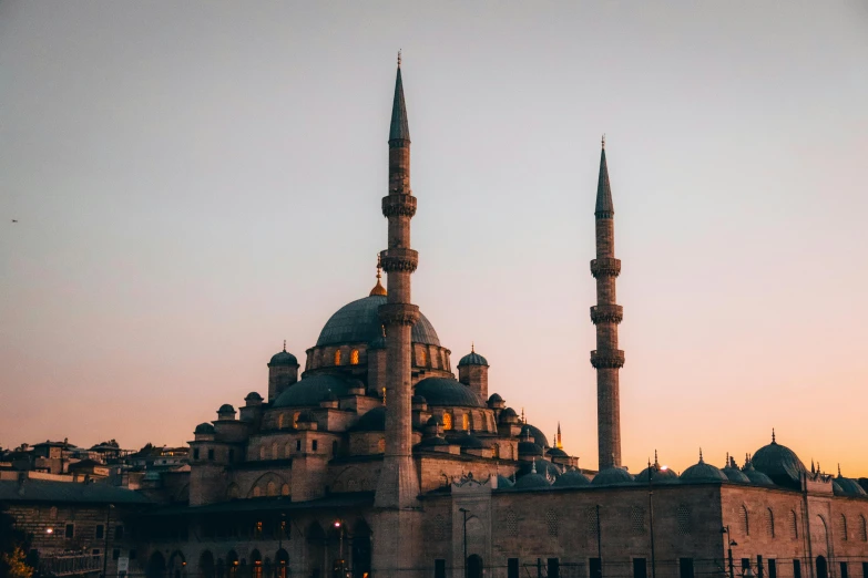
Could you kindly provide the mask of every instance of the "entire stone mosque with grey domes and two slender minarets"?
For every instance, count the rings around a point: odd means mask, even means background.
[[[400,60],[381,200],[388,247],[367,296],[316,343],[268,362],[265,396],[195,427],[188,474],[136,523],[147,576],[202,578],[868,578],[868,496],[770,443],[743,466],[681,475],[621,464],[614,204],[605,143],[591,307],[598,471],[489,386],[471,348],[452,365],[412,305],[419,254]],[[589,207],[590,217],[590,207]],[[387,273],[387,286],[380,279]],[[494,362],[497,362],[494,360]],[[493,384],[496,385],[496,384]]]

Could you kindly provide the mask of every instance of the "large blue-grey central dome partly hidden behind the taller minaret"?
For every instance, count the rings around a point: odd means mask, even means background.
[[[347,303],[331,316],[316,347],[340,345],[345,343],[369,343],[382,334],[382,324],[379,319],[379,307],[386,303],[386,296],[372,295]],[[413,343],[440,347],[437,331],[428,319],[419,313],[419,321],[412,328]]]

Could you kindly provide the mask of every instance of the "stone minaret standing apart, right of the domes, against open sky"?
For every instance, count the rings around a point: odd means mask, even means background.
[[[624,308],[615,302],[615,279],[621,272],[621,260],[615,259],[614,215],[603,135],[594,209],[596,259],[591,261],[591,273],[596,279],[596,306],[591,308],[591,321],[596,326],[596,350],[591,352],[591,364],[596,369],[596,430],[601,471],[621,466],[617,372],[624,367],[624,352],[617,349],[617,324],[624,317]]]

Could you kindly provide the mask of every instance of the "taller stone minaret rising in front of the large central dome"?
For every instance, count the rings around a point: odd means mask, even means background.
[[[389,248],[380,254],[382,269],[388,273],[387,302],[379,310],[386,328],[386,455],[375,503],[385,508],[408,508],[419,496],[410,407],[410,330],[419,319],[419,308],[410,303],[410,275],[419,262],[419,254],[410,249],[416,197],[410,190],[410,128],[404,104],[400,53],[389,127],[389,194],[382,198],[382,214],[389,219]]]

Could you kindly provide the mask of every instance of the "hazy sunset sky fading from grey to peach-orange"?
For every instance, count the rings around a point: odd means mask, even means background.
[[[795,6],[794,6],[795,4]],[[868,4],[0,3],[0,445],[182,444],[364,297],[395,55],[413,302],[596,465],[593,200],[624,462],[777,440],[868,475]],[[11,219],[19,219],[11,224]]]

